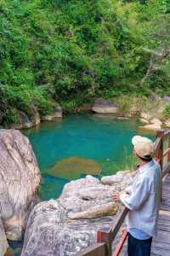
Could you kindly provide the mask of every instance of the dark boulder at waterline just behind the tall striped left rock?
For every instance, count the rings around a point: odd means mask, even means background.
[[[10,128],[11,129],[28,129],[32,127],[32,122],[31,120],[27,117],[26,113],[19,111],[19,121],[16,124],[11,124]]]

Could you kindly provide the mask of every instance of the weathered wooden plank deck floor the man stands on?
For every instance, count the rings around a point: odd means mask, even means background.
[[[120,239],[119,233],[113,244],[113,248]],[[122,248],[120,256],[127,256],[127,241]],[[151,256],[170,256],[170,174],[164,178],[162,187],[161,210],[158,218],[157,235],[153,239]]]

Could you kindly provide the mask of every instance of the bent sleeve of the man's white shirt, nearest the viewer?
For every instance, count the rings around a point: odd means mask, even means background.
[[[143,180],[133,183],[131,194],[123,193],[120,200],[129,210],[138,209],[150,195],[150,179],[144,177]]]

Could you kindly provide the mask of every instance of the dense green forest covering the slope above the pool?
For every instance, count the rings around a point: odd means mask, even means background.
[[[0,110],[170,95],[168,0],[1,0]]]

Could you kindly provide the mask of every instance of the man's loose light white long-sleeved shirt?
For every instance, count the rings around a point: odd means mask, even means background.
[[[120,195],[130,210],[127,214],[127,231],[142,230],[149,236],[156,234],[158,211],[161,203],[161,167],[155,160],[139,167],[132,186]]]

